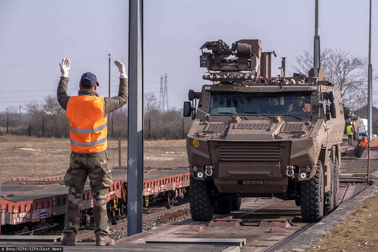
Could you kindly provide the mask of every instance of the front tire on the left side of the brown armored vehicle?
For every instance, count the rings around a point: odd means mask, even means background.
[[[209,221],[212,219],[215,199],[211,197],[211,190],[212,187],[209,181],[190,177],[189,203],[194,221]]]

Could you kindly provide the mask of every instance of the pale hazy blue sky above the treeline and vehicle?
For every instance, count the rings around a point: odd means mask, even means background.
[[[230,45],[261,39],[264,51],[276,50],[272,74],[279,74],[280,57],[290,65],[303,50],[313,51],[314,2],[145,0],[144,92],[159,98],[160,75],[167,73],[169,106],[181,108],[187,91],[200,91],[206,83],[198,48],[218,39]],[[90,71],[100,83],[98,93],[107,96],[108,53],[127,69],[128,5],[125,0],[1,0],[0,111],[56,95],[63,57],[71,59],[69,95],[77,94],[81,74]],[[372,64],[378,69],[376,1],[372,13]],[[321,48],[367,56],[369,0],[320,0],[320,37]],[[119,75],[111,67],[114,96]]]

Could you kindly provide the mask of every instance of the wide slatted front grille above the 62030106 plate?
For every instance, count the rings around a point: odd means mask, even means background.
[[[220,161],[278,162],[280,142],[218,142]]]

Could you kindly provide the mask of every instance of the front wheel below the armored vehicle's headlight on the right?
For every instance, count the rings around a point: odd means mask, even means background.
[[[305,222],[317,222],[323,216],[323,167],[320,161],[317,166],[315,175],[311,179],[301,182],[301,215]]]

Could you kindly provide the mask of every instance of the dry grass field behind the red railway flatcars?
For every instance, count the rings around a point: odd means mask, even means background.
[[[40,178],[62,175],[70,163],[70,140],[0,136],[1,178]],[[109,164],[118,166],[118,141],[108,141]],[[121,165],[127,165],[127,141],[121,141]],[[188,165],[185,140],[144,141],[144,166],[184,167]]]

